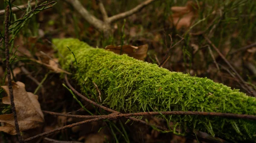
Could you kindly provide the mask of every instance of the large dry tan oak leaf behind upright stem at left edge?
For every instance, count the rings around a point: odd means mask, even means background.
[[[11,104],[8,86],[2,86],[2,88],[8,95],[3,97],[3,104]],[[44,123],[44,114],[41,111],[38,96],[26,92],[25,84],[19,81],[12,82],[12,88],[20,131],[40,127]],[[11,135],[17,134],[13,114],[0,115],[0,122],[4,123],[3,126],[0,126],[0,131]]]

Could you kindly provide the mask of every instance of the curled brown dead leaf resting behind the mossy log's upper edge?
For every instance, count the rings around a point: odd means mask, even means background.
[[[122,47],[122,51],[121,51]],[[147,56],[147,51],[148,51],[148,44],[141,45],[141,46],[132,46],[132,45],[119,45],[119,46],[114,46],[114,45],[108,45],[105,47],[106,50],[110,50],[114,53],[120,54],[127,54],[128,56],[134,57],[135,59],[139,59],[144,61],[145,57]]]

